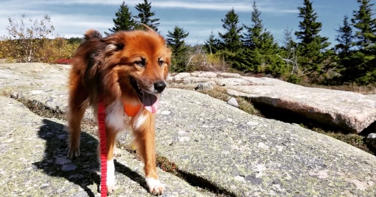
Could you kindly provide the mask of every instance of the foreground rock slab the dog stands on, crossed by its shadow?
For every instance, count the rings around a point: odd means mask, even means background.
[[[81,157],[66,158],[66,123],[30,112],[14,99],[0,96],[0,196],[99,197],[98,139],[81,134]],[[93,128],[95,130],[95,128]],[[91,133],[94,131],[90,131]],[[115,160],[114,197],[153,197],[147,192],[143,164],[119,149]],[[169,173],[159,171],[165,197],[213,197]]]

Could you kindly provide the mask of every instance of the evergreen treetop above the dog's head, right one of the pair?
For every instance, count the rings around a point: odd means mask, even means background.
[[[139,24],[145,24],[149,26],[150,28],[154,29],[155,31],[158,31],[158,26],[159,26],[159,20],[158,18],[152,19],[155,15],[155,12],[151,11],[151,3],[148,2],[147,0],[144,0],[143,3],[138,3],[135,8],[138,10],[138,15],[134,16],[134,18],[138,19],[138,26]]]

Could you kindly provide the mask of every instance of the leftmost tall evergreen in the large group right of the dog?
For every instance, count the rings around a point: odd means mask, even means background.
[[[221,49],[227,50],[229,52],[236,52],[242,47],[242,27],[238,26],[239,15],[235,13],[234,8],[227,12],[224,19],[221,19],[223,22],[222,27],[226,30],[225,33],[220,33],[219,37],[221,38]]]

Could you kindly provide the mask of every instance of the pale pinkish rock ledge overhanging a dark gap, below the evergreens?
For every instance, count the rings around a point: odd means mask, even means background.
[[[288,110],[349,132],[360,133],[376,121],[375,95],[304,87],[278,79],[244,77],[234,73],[179,73],[169,79],[180,84],[214,82],[233,96]]]

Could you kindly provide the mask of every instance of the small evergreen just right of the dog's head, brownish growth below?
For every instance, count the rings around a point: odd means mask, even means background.
[[[183,28],[175,26],[174,31],[168,31],[167,46],[172,50],[172,63],[170,70],[175,72],[184,72],[186,68],[188,47],[184,39],[189,35]]]

